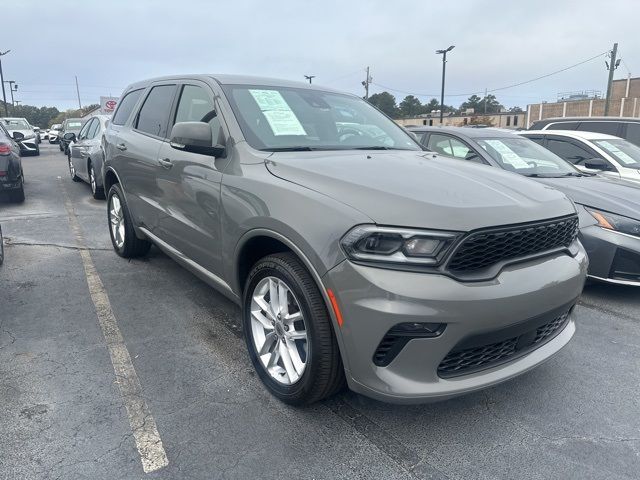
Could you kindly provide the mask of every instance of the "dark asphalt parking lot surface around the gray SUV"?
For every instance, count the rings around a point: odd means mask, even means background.
[[[254,375],[237,307],[156,248],[117,257],[105,202],[71,181],[57,145],[41,149],[23,159],[25,203],[0,204],[0,478],[640,476],[637,289],[587,286],[571,344],[498,387],[296,409]],[[166,456],[148,473],[82,251],[135,368],[139,428],[155,427]]]

